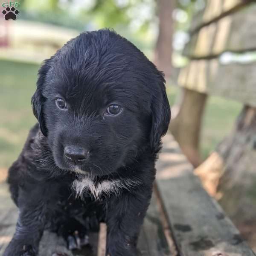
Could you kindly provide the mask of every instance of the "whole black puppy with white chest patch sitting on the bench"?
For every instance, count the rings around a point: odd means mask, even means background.
[[[99,221],[107,255],[135,256],[170,121],[163,73],[115,32],[85,32],[44,62],[32,105],[38,124],[9,169],[19,218],[4,256],[37,255],[46,228],[70,241]]]

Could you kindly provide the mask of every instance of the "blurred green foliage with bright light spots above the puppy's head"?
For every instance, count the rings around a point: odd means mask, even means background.
[[[19,19],[50,23],[67,28],[93,30],[114,28],[138,47],[154,49],[158,33],[157,0],[20,0]],[[175,22],[174,44],[183,49],[192,14],[203,9],[205,0],[176,0],[169,10]]]

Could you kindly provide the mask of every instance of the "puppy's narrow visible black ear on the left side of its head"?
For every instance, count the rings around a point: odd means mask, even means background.
[[[44,88],[45,77],[47,75],[49,68],[51,67],[51,61],[52,61],[52,58],[44,61],[44,64],[39,69],[37,89],[31,99],[33,113],[34,113],[36,119],[38,119],[39,127],[41,129],[42,134],[44,134],[44,136],[47,136],[47,128],[45,125],[44,111],[43,111],[44,102],[46,99],[42,94],[42,90]]]

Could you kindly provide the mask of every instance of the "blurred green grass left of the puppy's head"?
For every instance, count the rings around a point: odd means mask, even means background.
[[[0,61],[0,167],[20,153],[29,128],[35,124],[31,96],[38,65]]]

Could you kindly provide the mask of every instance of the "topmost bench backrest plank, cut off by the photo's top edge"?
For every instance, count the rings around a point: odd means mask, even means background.
[[[203,27],[239,11],[251,2],[253,0],[207,0],[205,8],[193,17],[189,34],[194,35]]]

